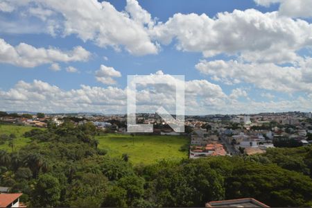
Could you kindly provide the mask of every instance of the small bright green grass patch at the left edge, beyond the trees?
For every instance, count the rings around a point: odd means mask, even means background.
[[[32,130],[31,126],[21,126],[21,125],[3,125],[0,124],[0,135],[6,134],[15,134],[16,139],[14,139],[14,150],[18,150],[22,146],[25,146],[31,139],[23,137],[25,132]],[[5,144],[0,144],[0,150],[7,150],[12,152],[12,148],[8,146],[8,141]]]

